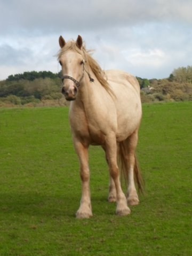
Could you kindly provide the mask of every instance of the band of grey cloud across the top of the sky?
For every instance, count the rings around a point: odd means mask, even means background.
[[[176,20],[192,24],[191,9],[188,0],[3,0],[1,31],[58,33]]]

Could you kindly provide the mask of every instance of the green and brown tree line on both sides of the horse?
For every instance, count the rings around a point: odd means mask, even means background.
[[[137,79],[142,102],[192,100],[192,66],[174,69],[166,79]],[[50,71],[24,72],[0,81],[0,106],[58,103],[62,98],[59,74]]]

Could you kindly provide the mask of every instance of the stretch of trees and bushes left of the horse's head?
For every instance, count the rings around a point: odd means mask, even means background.
[[[24,72],[10,75],[6,80],[0,81],[0,106],[9,102],[15,105],[35,105],[42,100],[61,98],[59,74],[50,71]]]

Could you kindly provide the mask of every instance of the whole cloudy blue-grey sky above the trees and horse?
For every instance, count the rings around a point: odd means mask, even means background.
[[[0,0],[0,10],[0,80],[59,72],[60,35],[81,35],[102,68],[142,78],[192,65],[191,0]]]

